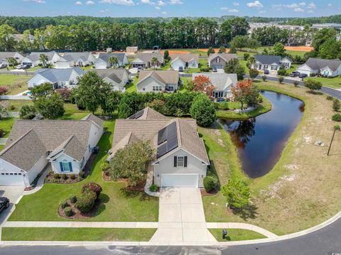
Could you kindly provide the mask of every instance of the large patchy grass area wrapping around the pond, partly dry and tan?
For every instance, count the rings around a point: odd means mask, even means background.
[[[302,99],[305,112],[274,168],[261,178],[244,175],[231,138],[220,126],[200,128],[212,166],[220,184],[229,178],[246,181],[251,190],[251,207],[234,213],[225,207],[221,192],[202,197],[208,222],[247,222],[278,235],[298,232],[324,222],[341,210],[339,168],[341,132],[332,138],[332,102],[325,94],[310,93],[304,87],[260,82],[259,89],[281,92]],[[278,116],[280,118],[280,116]],[[324,147],[314,146],[323,141]],[[259,145],[264,146],[264,145]]]

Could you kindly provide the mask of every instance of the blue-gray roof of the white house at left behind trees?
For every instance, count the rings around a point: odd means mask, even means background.
[[[39,74],[45,77],[50,82],[65,82],[70,80],[72,72],[76,72],[78,76],[82,76],[84,71],[80,67],[73,68],[39,68],[36,70],[36,75]]]

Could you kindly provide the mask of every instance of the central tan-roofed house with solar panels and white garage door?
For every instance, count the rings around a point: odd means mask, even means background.
[[[117,119],[107,160],[138,141],[149,141],[156,152],[148,164],[156,185],[203,187],[210,160],[194,119],[170,119],[148,107],[128,119]]]

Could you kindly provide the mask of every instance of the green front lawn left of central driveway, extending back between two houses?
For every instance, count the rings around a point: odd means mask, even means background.
[[[91,181],[99,183],[103,188],[99,197],[101,205],[94,217],[77,219],[77,221],[158,221],[158,198],[149,197],[144,192],[129,192],[126,190],[125,183],[103,181],[100,165],[106,160],[107,151],[111,148],[114,121],[105,121],[104,126],[108,128],[108,133],[99,141],[100,151],[90,175],[80,183],[45,184],[38,192],[21,199],[9,221],[70,221],[58,215],[58,205],[71,195],[80,195],[82,185]]]

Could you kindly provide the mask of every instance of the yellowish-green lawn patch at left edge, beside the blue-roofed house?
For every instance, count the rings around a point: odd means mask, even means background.
[[[6,87],[7,94],[19,94],[28,89],[27,81],[31,75],[0,75],[0,87]]]

